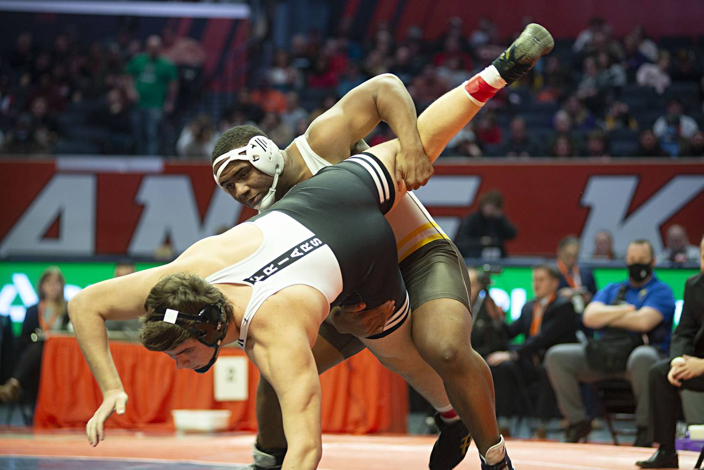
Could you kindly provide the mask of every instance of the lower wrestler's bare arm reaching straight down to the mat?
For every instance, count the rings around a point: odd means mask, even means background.
[[[288,443],[282,470],[313,470],[320,462],[320,380],[310,349],[328,308],[320,292],[294,285],[269,297],[250,326],[246,352],[281,404]]]

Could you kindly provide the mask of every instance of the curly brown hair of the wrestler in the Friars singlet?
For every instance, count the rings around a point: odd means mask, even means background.
[[[139,317],[142,322],[139,341],[150,351],[172,350],[182,345],[195,336],[186,328],[162,321],[163,314],[157,314],[155,310],[175,309],[184,314],[198,315],[203,306],[209,304],[222,307],[227,320],[232,321],[232,304],[207,280],[188,273],[165,276],[151,288],[144,301],[146,313]],[[196,324],[190,320],[184,322]]]

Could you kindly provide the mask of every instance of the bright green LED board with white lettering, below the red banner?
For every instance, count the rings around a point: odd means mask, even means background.
[[[70,299],[83,287],[98,283],[113,276],[114,263],[103,262],[64,262],[46,263],[34,261],[0,261],[0,315],[10,315],[13,322],[21,323],[25,309],[39,301],[37,282],[42,271],[48,266],[61,268],[66,278],[65,297]],[[137,270],[158,266],[156,263],[138,263]],[[682,309],[684,282],[697,271],[695,269],[656,269],[655,273],[663,282],[672,287],[677,300],[675,323]],[[624,280],[625,268],[595,268],[594,277],[598,288],[608,283]],[[505,266],[500,274],[492,274],[491,297],[507,312],[510,319],[516,319],[523,305],[532,298],[531,268]]]

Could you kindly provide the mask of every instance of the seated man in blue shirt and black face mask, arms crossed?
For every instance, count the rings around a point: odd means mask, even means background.
[[[667,354],[674,316],[674,296],[655,273],[653,246],[634,240],[626,252],[628,279],[599,290],[584,309],[584,326],[596,331],[588,345],[556,345],[545,366],[562,415],[569,421],[565,440],[576,443],[591,431],[579,383],[626,378],[636,397],[634,445],[650,447],[648,369]]]

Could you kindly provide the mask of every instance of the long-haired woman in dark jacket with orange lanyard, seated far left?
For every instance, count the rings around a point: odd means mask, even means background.
[[[68,328],[67,302],[63,297],[65,284],[63,273],[56,266],[49,266],[39,276],[39,304],[27,307],[20,335],[19,359],[11,378],[0,385],[0,402],[20,398],[28,402],[37,400],[44,339],[53,331]]]

